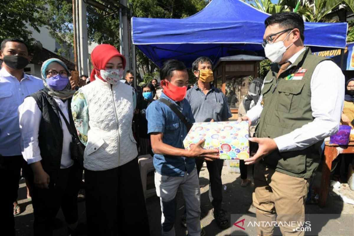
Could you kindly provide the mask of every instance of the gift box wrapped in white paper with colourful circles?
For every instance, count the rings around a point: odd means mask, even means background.
[[[250,157],[248,121],[194,123],[183,140],[185,149],[191,149],[205,138],[204,149],[219,149],[220,159],[245,160]]]

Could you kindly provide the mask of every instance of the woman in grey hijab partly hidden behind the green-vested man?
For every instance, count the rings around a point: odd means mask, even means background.
[[[263,84],[262,79],[257,78],[252,80],[248,90],[248,95],[240,103],[239,112],[238,112],[239,117],[245,116],[247,111],[257,104],[259,100],[259,96],[261,95],[262,84]],[[250,126],[250,137],[253,137],[253,134],[255,133],[255,129],[256,129],[255,126]],[[247,179],[247,166],[245,165],[244,160],[240,160],[240,174],[242,179],[241,186],[246,187],[251,183],[251,180]]]

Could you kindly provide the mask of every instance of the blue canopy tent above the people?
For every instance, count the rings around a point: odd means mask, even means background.
[[[240,0],[212,0],[184,19],[132,18],[132,41],[158,67],[178,59],[187,67],[200,56],[264,56],[264,20],[269,15]],[[304,44],[313,52],[345,48],[347,23],[305,23]]]

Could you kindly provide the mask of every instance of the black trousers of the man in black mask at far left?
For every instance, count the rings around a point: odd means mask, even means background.
[[[1,235],[15,235],[13,202],[17,200],[18,182],[24,160],[20,156],[0,157],[0,229]]]

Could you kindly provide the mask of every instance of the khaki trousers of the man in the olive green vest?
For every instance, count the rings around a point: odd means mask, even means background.
[[[258,235],[273,235],[274,222],[278,223],[282,235],[304,235],[296,228],[305,219],[309,181],[269,169],[261,162],[255,164],[253,178],[257,222],[269,222],[257,225]]]

